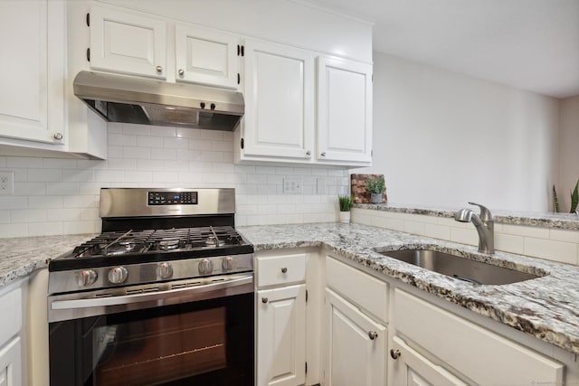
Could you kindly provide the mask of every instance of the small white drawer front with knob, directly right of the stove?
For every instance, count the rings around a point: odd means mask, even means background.
[[[257,287],[287,285],[305,280],[305,253],[257,258]]]

